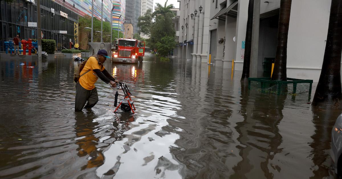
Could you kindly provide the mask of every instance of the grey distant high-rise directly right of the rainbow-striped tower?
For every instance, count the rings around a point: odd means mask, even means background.
[[[132,21],[134,34],[138,33],[138,18],[141,15],[141,1],[142,0],[129,0],[126,3],[126,22]]]

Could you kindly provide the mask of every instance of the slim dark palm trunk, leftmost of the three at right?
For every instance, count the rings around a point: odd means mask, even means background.
[[[251,63],[251,48],[252,48],[253,7],[254,7],[254,0],[249,0],[246,40],[245,40],[244,67],[242,68],[241,81],[247,81],[249,77],[249,68],[250,68],[250,63]]]

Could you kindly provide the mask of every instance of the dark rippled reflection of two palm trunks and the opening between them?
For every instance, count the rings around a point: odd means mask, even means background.
[[[273,178],[274,172],[281,170],[281,164],[273,159],[282,152],[278,125],[283,118],[286,96],[262,94],[247,88],[241,82],[240,114],[244,121],[238,123],[236,129],[242,144],[242,160],[233,168],[235,174],[231,178]]]

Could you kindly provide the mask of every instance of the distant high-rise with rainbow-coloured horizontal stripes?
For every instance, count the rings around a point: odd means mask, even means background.
[[[115,6],[112,14],[113,29],[124,31],[126,0],[113,0],[113,5]]]

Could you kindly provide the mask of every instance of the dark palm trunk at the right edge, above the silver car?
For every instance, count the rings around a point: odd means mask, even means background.
[[[342,108],[341,93],[342,0],[332,0],[327,43],[312,102],[319,108]]]

